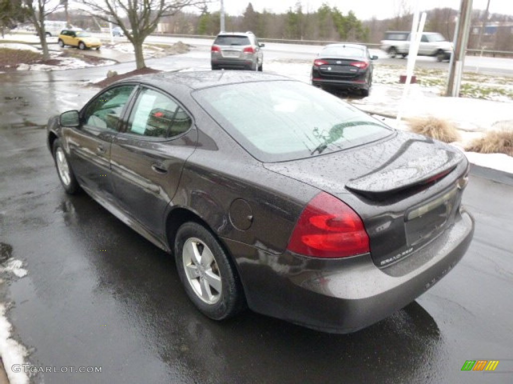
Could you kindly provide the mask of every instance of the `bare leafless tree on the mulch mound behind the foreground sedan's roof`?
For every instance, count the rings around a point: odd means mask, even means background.
[[[39,0],[42,1],[42,0]],[[209,0],[79,0],[91,14],[120,26],[132,43],[135,66],[145,68],[143,43],[159,25],[161,17],[172,16],[186,7],[202,7]],[[125,23],[125,17],[128,23]]]

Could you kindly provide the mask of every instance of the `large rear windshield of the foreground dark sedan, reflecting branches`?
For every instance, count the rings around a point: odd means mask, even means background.
[[[319,156],[392,134],[378,120],[300,81],[230,84],[193,96],[229,135],[264,162]]]

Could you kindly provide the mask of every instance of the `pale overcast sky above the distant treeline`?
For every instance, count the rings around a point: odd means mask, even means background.
[[[450,7],[459,9],[461,0],[418,0],[420,10],[432,8]],[[244,13],[248,3],[253,5],[255,11],[262,12],[264,9],[274,13],[285,13],[289,8],[294,8],[297,0],[224,0],[225,12],[238,15]],[[401,4],[409,4],[411,10],[415,9],[416,0],[301,0],[303,12],[313,12],[322,3],[329,6],[336,6],[344,14],[352,10],[360,19],[370,19],[376,16],[378,19],[393,17],[401,9]],[[486,9],[487,0],[473,0],[473,9]],[[210,11],[219,10],[220,0],[214,1],[208,7]],[[490,13],[503,13],[513,15],[513,0],[490,0]]]

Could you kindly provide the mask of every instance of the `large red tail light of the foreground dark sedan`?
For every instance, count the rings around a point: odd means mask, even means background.
[[[370,251],[362,219],[325,192],[310,200],[303,210],[287,249],[315,258],[344,258]]]

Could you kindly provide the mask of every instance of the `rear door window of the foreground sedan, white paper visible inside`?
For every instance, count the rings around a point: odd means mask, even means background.
[[[143,89],[130,114],[127,133],[170,138],[187,132],[191,123],[189,115],[171,98]]]

